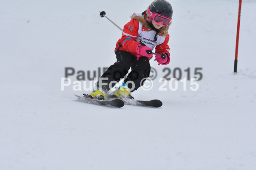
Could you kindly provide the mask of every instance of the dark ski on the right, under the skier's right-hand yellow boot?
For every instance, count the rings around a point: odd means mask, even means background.
[[[107,99],[116,99],[112,96],[106,97]],[[125,105],[134,105],[134,106],[146,106],[146,107],[154,107],[159,108],[163,105],[163,103],[158,100],[135,100],[135,99],[121,99]]]

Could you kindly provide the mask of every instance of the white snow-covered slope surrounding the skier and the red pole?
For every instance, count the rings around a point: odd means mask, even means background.
[[[238,74],[233,75],[239,0],[169,0],[171,62],[136,99],[161,108],[79,102],[64,68],[97,71],[115,62],[119,26],[148,0],[0,0],[0,170],[254,170],[256,0],[243,0]],[[158,91],[164,68],[201,70]],[[71,76],[72,82],[76,75]],[[171,77],[172,74],[169,76]]]

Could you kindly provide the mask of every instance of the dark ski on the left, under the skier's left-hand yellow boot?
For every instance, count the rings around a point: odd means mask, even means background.
[[[94,104],[94,105],[102,105],[102,106],[113,106],[116,108],[122,108],[125,103],[121,99],[112,99],[112,100],[97,100],[97,99],[91,99],[89,96],[78,96],[75,94],[75,96],[86,103]]]

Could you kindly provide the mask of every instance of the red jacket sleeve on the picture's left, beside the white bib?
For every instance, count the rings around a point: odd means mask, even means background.
[[[130,53],[137,53],[136,46],[139,42],[135,41],[138,37],[139,21],[132,19],[129,23],[125,24],[121,43],[122,47]]]

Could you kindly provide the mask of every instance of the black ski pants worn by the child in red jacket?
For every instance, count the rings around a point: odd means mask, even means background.
[[[131,92],[137,90],[141,85],[144,84],[144,78],[149,77],[150,73],[150,64],[148,57],[140,57],[137,60],[137,57],[132,55],[127,51],[116,51],[116,62],[111,65],[107,71],[101,76],[101,78],[108,78],[108,80],[102,79],[102,89],[104,91],[109,91],[110,87],[109,84],[111,81],[119,82],[120,79],[124,78],[125,75],[128,73],[129,69],[131,68],[131,72],[128,74],[127,78],[124,80],[125,84],[131,89]],[[143,80],[143,81],[142,81]],[[128,81],[132,81],[130,83]],[[128,83],[127,83],[128,82]],[[107,85],[104,85],[107,84]],[[97,82],[97,87],[99,86],[99,81]],[[113,83],[111,88],[115,85]],[[134,87],[135,86],[135,87]]]

